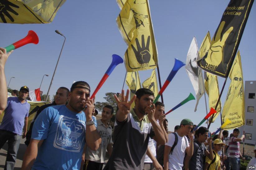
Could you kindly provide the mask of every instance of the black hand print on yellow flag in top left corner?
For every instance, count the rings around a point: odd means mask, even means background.
[[[9,12],[12,12],[14,15],[19,15],[16,11],[14,11],[12,7],[19,8],[19,6],[9,2],[8,0],[1,0],[0,2],[0,18],[2,19],[3,23],[7,23],[5,16],[8,17],[12,22],[14,19],[10,15]]]

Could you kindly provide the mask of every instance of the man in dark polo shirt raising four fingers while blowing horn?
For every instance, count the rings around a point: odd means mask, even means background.
[[[154,118],[154,93],[140,88],[129,102],[128,97],[129,90],[126,96],[122,90],[121,101],[115,95],[119,110],[116,113],[113,152],[104,169],[141,170],[149,137],[161,145],[166,142],[164,132]],[[133,101],[135,108],[131,109]]]

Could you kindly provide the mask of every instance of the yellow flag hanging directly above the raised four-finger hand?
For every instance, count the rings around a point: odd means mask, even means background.
[[[130,99],[135,95],[135,92],[141,88],[139,72],[127,72],[126,84],[130,89]],[[135,103],[133,102],[131,108],[134,108]]]

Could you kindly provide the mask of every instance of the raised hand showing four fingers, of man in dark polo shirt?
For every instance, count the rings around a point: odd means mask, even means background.
[[[126,96],[124,96],[124,90],[122,90],[121,101],[118,99],[116,95],[114,95],[117,102],[117,106],[118,106],[118,111],[116,113],[116,120],[118,122],[123,122],[124,120],[127,119],[127,115],[130,113],[130,110],[131,110],[131,104],[136,98],[136,95],[134,95],[133,98],[130,101],[128,101],[129,93],[130,93],[130,90],[127,90]]]

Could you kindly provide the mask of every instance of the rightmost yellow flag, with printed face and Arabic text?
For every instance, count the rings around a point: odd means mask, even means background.
[[[231,121],[225,129],[234,129],[244,125],[244,81],[240,51],[236,55],[229,78],[231,82],[222,111],[222,120]]]

